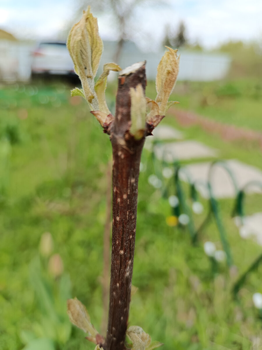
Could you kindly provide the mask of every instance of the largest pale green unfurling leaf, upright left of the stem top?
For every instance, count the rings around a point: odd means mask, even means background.
[[[102,55],[103,42],[98,33],[97,19],[90,13],[90,7],[71,29],[67,38],[67,48],[90,109],[98,110],[94,77]]]

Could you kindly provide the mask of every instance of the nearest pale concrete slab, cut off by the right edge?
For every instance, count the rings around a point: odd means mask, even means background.
[[[262,212],[245,216],[243,218],[243,224],[238,216],[234,218],[234,221],[243,239],[253,238],[262,246]]]

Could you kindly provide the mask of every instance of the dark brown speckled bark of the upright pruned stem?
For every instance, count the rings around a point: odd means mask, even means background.
[[[112,172],[112,253],[110,301],[104,350],[125,349],[128,325],[134,245],[137,221],[138,177],[146,131],[141,140],[129,134],[130,87],[146,86],[145,65],[129,75],[120,75],[116,97],[116,115],[110,125],[113,153]]]

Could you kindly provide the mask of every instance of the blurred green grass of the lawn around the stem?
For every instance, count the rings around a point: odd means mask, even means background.
[[[114,89],[110,87],[109,96],[114,96]],[[71,99],[69,90],[70,86],[62,84],[0,90],[2,139],[13,140],[5,158],[8,167],[2,175],[6,187],[0,214],[1,350],[22,349],[22,331],[31,334],[34,330],[38,337],[48,332],[43,326],[37,328],[45,310],[43,295],[37,288],[35,292],[32,274],[44,232],[51,232],[54,253],[63,259],[64,278],[68,274],[71,280],[71,295],[85,303],[93,324],[100,328],[106,171],[111,146],[85,102]],[[180,96],[175,99],[180,100]],[[179,127],[170,116],[165,123]],[[251,128],[253,121],[249,123]],[[230,144],[196,126],[183,132],[186,138],[218,148],[222,158],[236,158],[262,168],[256,145]],[[154,170],[146,150],[142,162],[147,169],[139,180],[133,272],[133,284],[139,290],[132,297],[130,325],[140,325],[153,340],[163,342],[165,350],[251,349],[254,339],[262,336],[261,318],[252,304],[252,294],[262,292],[262,266],[249,276],[239,299],[234,301],[230,288],[236,276],[228,273],[224,263],[214,274],[203,252],[206,240],[221,248],[214,221],[203,230],[195,247],[187,229],[167,226],[171,209],[160,190],[148,184]],[[202,202],[206,214],[208,203]],[[233,200],[223,200],[220,208],[234,262],[241,273],[261,253],[261,247],[240,239],[230,217],[233,204]],[[261,196],[248,196],[246,209],[247,214],[261,210]],[[197,225],[204,214],[195,217]],[[66,305],[62,297],[59,299],[61,281],[48,274],[47,259],[41,258],[41,264],[40,279],[49,286],[48,295],[63,321]],[[58,334],[63,338],[61,332],[62,328]],[[94,349],[84,337],[72,328],[70,338],[60,339],[57,346],[63,350]]]

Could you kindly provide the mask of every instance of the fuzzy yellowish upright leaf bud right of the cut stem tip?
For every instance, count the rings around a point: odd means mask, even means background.
[[[155,102],[159,105],[159,114],[163,115],[166,110],[166,105],[170,93],[174,89],[177,75],[179,72],[179,59],[177,56],[177,50],[173,50],[170,47],[163,55],[159,65],[155,85],[157,89],[157,98]]]

